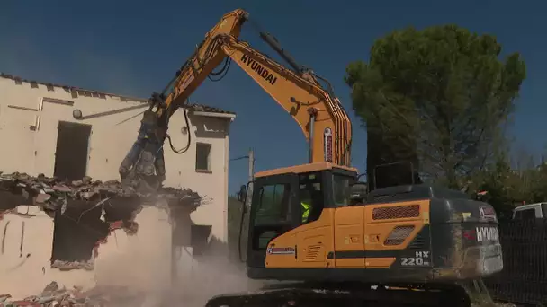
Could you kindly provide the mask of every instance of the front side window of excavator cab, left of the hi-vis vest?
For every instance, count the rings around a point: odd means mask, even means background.
[[[273,184],[260,188],[255,224],[276,224],[289,220],[289,185]]]

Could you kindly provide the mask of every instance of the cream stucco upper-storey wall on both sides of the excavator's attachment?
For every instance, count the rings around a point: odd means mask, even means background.
[[[92,126],[89,141],[87,175],[94,180],[119,179],[118,167],[130,146],[135,141],[142,110],[130,110],[119,114],[76,120],[75,109],[84,116],[136,106],[138,100],[121,101],[119,96],[106,95],[106,99],[78,95],[61,87],[49,91],[39,84],[31,88],[30,83],[16,84],[12,79],[0,77],[0,171],[27,172],[32,175],[44,173],[52,176],[57,146],[59,121],[77,122]],[[74,101],[74,106],[40,102],[43,98]],[[9,105],[33,110],[19,110]],[[143,109],[144,110],[144,109]],[[164,145],[166,159],[166,186],[190,188],[210,200],[192,214],[195,224],[212,225],[212,235],[220,241],[228,241],[228,160],[229,160],[229,118],[195,116],[189,112],[192,143],[184,154],[171,151]],[[128,121],[122,121],[136,116]],[[40,122],[36,131],[31,125]],[[187,136],[184,113],[178,110],[171,118],[169,134],[174,145],[184,147]],[[211,173],[195,171],[196,142],[211,144]]]

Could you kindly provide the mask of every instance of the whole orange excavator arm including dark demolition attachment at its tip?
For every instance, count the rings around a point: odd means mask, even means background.
[[[213,70],[223,61],[225,65],[229,65],[230,61],[236,62],[291,114],[309,142],[309,162],[327,161],[342,166],[350,165],[351,121],[330,85],[309,69],[299,66],[268,33],[260,32],[260,37],[279,53],[291,69],[265,56],[247,42],[238,40],[248,16],[247,12],[239,9],[222,16],[164,91],[152,95],[150,109],[141,120],[139,137],[121,162],[122,180],[134,178],[131,174],[135,173],[139,177],[153,178],[154,169],[157,180],[165,180],[162,146],[168,137],[166,130],[169,118],[177,109],[186,107],[188,98],[205,78],[222,74]],[[327,83],[328,90],[318,80]],[[148,186],[157,189],[159,183],[154,182]]]

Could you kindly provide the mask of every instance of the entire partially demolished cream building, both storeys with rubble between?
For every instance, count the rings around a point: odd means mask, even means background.
[[[146,102],[0,75],[2,294],[40,293],[51,281],[162,287],[195,255],[226,248],[235,114],[196,104],[186,126],[178,110],[168,132],[175,146],[188,134],[192,143],[165,151],[171,188],[141,195],[115,179]]]

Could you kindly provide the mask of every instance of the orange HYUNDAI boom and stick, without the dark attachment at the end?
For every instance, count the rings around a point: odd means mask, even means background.
[[[333,162],[349,166],[352,127],[347,113],[334,94],[324,90],[315,75],[302,69],[282,48],[273,46],[289,61],[292,70],[282,66],[247,42],[238,40],[248,13],[235,10],[220,22],[176,74],[173,89],[166,96],[158,116],[170,116],[223,60],[231,59],[272,96],[299,124],[309,142],[309,162]],[[267,33],[261,37],[276,44]],[[166,112],[166,110],[169,110]]]

